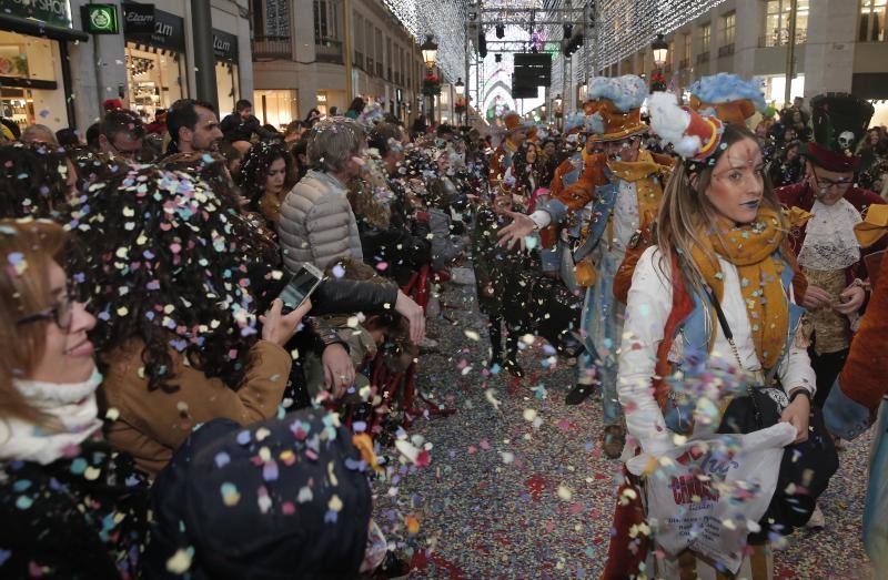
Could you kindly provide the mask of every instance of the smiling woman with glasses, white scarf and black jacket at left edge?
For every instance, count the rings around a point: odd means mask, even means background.
[[[145,479],[101,440],[65,234],[0,221],[0,577],[131,578],[147,536]]]

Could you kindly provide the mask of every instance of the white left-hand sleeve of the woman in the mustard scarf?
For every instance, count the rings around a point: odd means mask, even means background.
[[[673,302],[669,274],[660,268],[659,252],[648,247],[632,278],[619,349],[617,395],[626,427],[645,452],[662,455],[673,448],[663,411],[654,398],[657,347]],[[666,266],[668,268],[668,266]]]

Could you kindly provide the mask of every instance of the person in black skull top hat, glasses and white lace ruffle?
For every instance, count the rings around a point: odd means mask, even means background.
[[[867,135],[872,112],[871,104],[850,94],[815,96],[814,141],[805,144],[807,179],[776,192],[786,207],[813,214],[793,230],[790,242],[808,279],[801,328],[817,374],[814,405],[820,408],[848,357],[851,326],[866,301],[861,281],[867,275],[854,226],[870,204],[885,203],[855,186],[859,157],[854,151]]]

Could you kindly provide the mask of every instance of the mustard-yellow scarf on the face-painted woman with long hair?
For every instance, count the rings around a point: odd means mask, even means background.
[[[717,227],[722,235],[710,231],[703,240],[708,247],[695,245],[692,257],[719,303],[725,294],[725,277],[715,255],[737,267],[756,355],[761,368],[769,370],[783,353],[789,327],[789,305],[780,281],[785,263],[775,255],[785,240],[779,215],[763,207],[750,224],[719,220]],[[713,328],[718,328],[715,312]]]

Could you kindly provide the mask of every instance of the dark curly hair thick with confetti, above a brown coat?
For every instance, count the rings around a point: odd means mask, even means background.
[[[93,184],[69,226],[91,248],[79,278],[100,319],[99,353],[143,343],[149,390],[179,388],[173,356],[238,389],[259,336],[242,220],[183,172],[145,165]]]

